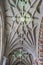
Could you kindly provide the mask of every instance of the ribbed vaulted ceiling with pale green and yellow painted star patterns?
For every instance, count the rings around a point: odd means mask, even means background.
[[[10,65],[32,65],[38,58],[42,0],[6,0],[4,56]],[[37,63],[35,63],[37,65]]]

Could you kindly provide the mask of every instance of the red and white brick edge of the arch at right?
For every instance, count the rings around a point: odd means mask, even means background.
[[[39,65],[43,65],[43,18],[39,31]]]

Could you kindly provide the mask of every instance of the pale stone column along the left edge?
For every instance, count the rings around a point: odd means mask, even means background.
[[[2,57],[4,54],[4,16],[2,2],[0,2],[0,65],[2,63]]]

